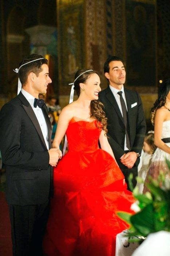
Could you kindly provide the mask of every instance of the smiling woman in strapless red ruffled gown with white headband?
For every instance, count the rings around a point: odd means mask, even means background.
[[[59,149],[66,133],[68,153],[54,168],[44,255],[114,256],[116,234],[129,227],[116,212],[131,212],[134,198],[107,140],[97,72],[78,70],[74,89],[78,99],[63,108],[53,142]]]

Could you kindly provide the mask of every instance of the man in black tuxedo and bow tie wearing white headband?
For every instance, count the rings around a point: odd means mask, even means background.
[[[6,166],[13,255],[42,255],[48,217],[52,166],[60,150],[51,148],[51,123],[39,93],[51,83],[47,60],[31,54],[16,69],[22,84],[19,95],[0,112],[0,150]]]

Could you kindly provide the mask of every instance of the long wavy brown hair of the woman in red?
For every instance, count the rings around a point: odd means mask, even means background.
[[[79,76],[79,78],[74,82],[74,90],[76,91],[78,97],[80,95],[80,83],[86,83],[87,79],[92,74],[98,74],[97,71],[89,70],[89,69],[79,69],[75,74],[75,79]],[[83,72],[88,71],[84,74]],[[82,74],[82,75],[81,75]],[[104,105],[102,102],[98,100],[92,100],[90,103],[90,117],[95,118],[102,124],[102,129],[107,133],[107,117],[104,112]]]

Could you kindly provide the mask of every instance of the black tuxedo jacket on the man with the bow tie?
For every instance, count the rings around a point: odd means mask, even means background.
[[[42,110],[51,148],[51,123],[45,104]],[[6,165],[7,203],[45,203],[52,174],[49,153],[35,113],[21,92],[1,109],[0,150]]]

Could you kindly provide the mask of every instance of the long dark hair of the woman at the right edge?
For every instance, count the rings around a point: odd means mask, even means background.
[[[151,108],[151,123],[154,125],[155,112],[157,109],[161,108],[166,103],[166,96],[170,91],[170,79],[165,79],[162,84],[160,84],[158,89],[158,99],[155,101],[153,108]]]

